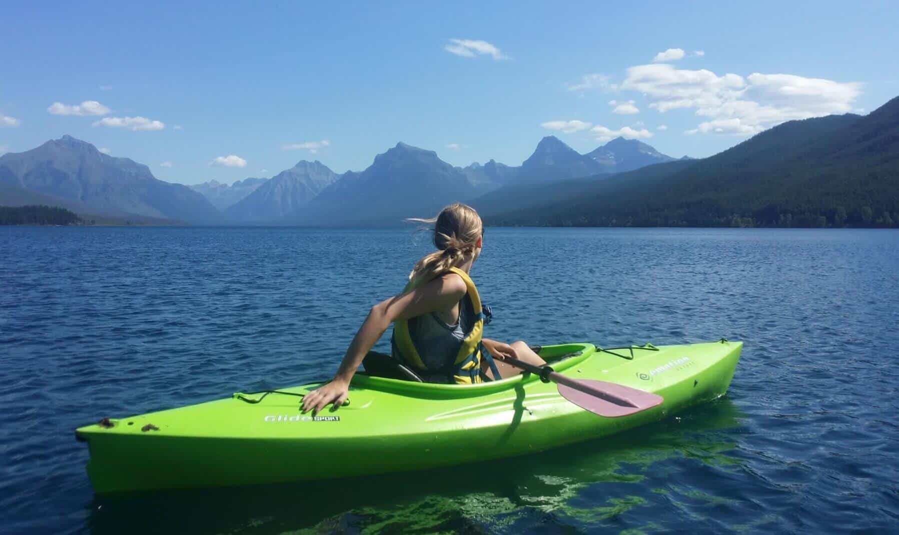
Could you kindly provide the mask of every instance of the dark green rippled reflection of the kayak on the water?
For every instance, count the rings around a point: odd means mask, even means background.
[[[161,531],[173,518],[180,530],[197,533],[520,532],[534,522],[576,531],[638,528],[644,526],[641,518],[654,516],[641,509],[660,501],[728,501],[668,477],[685,467],[708,467],[717,477],[739,470],[727,436],[740,419],[724,397],[658,424],[516,459],[307,484],[97,499],[91,524],[95,533],[120,533],[123,525],[129,531]],[[167,512],[165,518],[159,511]]]

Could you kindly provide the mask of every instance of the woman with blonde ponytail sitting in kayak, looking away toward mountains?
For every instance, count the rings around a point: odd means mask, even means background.
[[[521,373],[503,362],[506,357],[538,366],[546,363],[527,343],[482,336],[480,297],[468,277],[484,246],[484,226],[477,212],[457,203],[436,218],[410,220],[434,225],[438,251],[415,263],[403,293],[371,308],[334,379],[303,398],[304,413],[343,405],[353,374],[391,323],[394,358],[428,382],[470,384]]]

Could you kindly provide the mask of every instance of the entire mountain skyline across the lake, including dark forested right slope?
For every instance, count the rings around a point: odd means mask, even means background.
[[[521,165],[449,165],[397,143],[360,172],[301,161],[271,178],[187,187],[69,136],[0,156],[0,205],[201,224],[396,225],[452,201],[492,224],[899,226],[899,98],[867,116],[794,120],[716,156],[616,138],[539,141]],[[149,219],[155,218],[155,219]]]

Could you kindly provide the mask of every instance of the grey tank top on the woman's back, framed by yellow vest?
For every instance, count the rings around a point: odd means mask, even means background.
[[[422,361],[430,370],[440,370],[456,361],[465,334],[470,332],[474,325],[474,317],[471,299],[465,297],[458,304],[456,325],[447,325],[433,312],[409,320],[409,336]],[[396,351],[393,356],[402,361]],[[424,372],[419,375],[427,382],[453,382],[451,377],[442,373]]]

